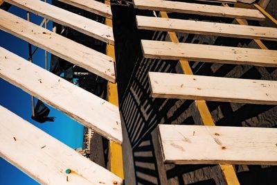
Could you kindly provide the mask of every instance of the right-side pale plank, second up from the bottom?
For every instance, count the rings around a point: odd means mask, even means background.
[[[277,81],[149,73],[152,97],[277,105]]]

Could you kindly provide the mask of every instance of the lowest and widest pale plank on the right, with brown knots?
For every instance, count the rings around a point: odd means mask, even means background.
[[[277,129],[159,125],[163,159],[172,164],[277,165]]]

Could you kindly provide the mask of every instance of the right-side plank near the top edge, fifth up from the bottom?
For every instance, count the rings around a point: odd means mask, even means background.
[[[211,6],[197,3],[184,3],[161,0],[134,0],[134,7],[143,10],[180,12],[206,16],[253,19],[260,21],[265,20],[265,16],[263,16],[258,10],[230,8],[223,6]]]

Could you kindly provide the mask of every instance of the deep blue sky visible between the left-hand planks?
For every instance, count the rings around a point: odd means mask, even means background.
[[[9,10],[12,14],[26,19],[26,11],[12,6]],[[40,24],[42,17],[31,14],[31,21]],[[48,22],[48,29],[52,29],[52,22]],[[14,37],[0,30],[0,46],[8,49],[12,53],[16,53],[28,60],[28,43],[24,40]],[[35,49],[35,46],[33,46]],[[48,53],[48,69],[50,64],[50,53]],[[38,49],[33,56],[33,63],[44,68],[44,50]],[[55,116],[55,122],[46,122],[44,124],[33,121],[30,116],[32,114],[30,95],[21,89],[10,85],[8,82],[0,78],[0,105],[10,109],[10,111],[21,116],[25,120],[33,123],[33,125],[44,130],[56,139],[59,139],[71,148],[82,148],[82,134],[84,127],[73,121],[62,112],[51,109],[49,116]],[[38,184],[33,179],[22,173],[20,170],[12,166],[4,159],[0,158],[0,185],[33,185]]]

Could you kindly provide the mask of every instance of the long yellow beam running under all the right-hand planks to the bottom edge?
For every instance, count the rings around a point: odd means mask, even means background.
[[[166,12],[160,12],[161,17],[168,18],[168,14]],[[168,32],[168,35],[172,42],[179,43],[177,35],[175,32]],[[193,71],[190,68],[187,60],[179,60],[181,68],[183,69],[185,74],[193,75]],[[205,100],[195,100],[195,105],[199,111],[199,114],[202,118],[203,124],[208,126],[215,126],[215,122],[213,121],[213,117],[211,116],[210,111],[208,110],[208,106],[206,105]],[[221,165],[220,168],[222,170],[222,174],[226,180],[226,183],[229,185],[238,185],[238,177],[235,175],[235,169],[232,165]]]

